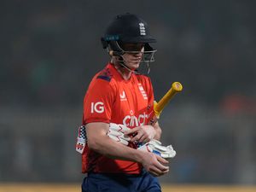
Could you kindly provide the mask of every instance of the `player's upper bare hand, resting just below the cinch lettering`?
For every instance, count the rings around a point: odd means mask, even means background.
[[[131,137],[131,143],[147,143],[154,138],[156,131],[152,125],[140,125],[129,131],[125,131],[125,136]]]

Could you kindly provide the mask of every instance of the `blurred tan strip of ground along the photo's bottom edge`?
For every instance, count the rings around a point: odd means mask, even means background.
[[[80,183],[0,183],[0,192],[80,192]],[[163,192],[255,192],[256,186],[162,185]]]

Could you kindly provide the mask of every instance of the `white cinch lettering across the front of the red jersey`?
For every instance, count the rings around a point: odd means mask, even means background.
[[[139,116],[135,115],[126,115],[123,119],[123,125],[126,125],[127,127],[136,127],[139,125],[145,125],[146,120],[148,119],[148,114],[143,113],[139,114]]]

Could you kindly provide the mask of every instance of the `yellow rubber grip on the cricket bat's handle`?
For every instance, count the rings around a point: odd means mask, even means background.
[[[166,104],[168,102],[170,102],[170,100],[172,99],[172,97],[177,93],[183,90],[183,85],[180,84],[179,82],[174,82],[172,84],[172,87],[170,90],[168,90],[166,92],[166,95],[163,96],[160,101],[155,105],[154,108],[154,113],[157,117],[160,116],[160,113],[162,112],[162,110],[166,107]]]

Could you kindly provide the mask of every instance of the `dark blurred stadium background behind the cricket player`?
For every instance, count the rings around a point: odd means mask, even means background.
[[[161,183],[255,185],[255,7],[253,0],[1,1],[0,191],[16,191],[8,183],[81,183],[74,145],[84,92],[108,61],[100,38],[109,20],[125,12],[147,20],[158,39],[156,99],[172,82],[183,84],[160,119],[162,142],[177,150]]]

